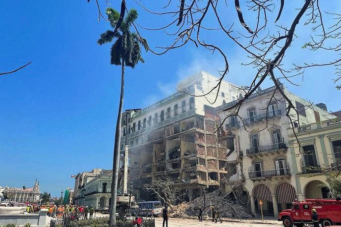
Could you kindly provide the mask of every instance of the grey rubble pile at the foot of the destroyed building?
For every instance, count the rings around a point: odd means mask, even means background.
[[[206,211],[208,216],[211,216],[210,204],[212,204],[215,209],[219,208],[220,216],[222,218],[252,218],[252,216],[247,213],[247,208],[244,205],[223,198],[223,196],[220,194],[220,190],[206,194]],[[204,196],[198,197],[195,200],[187,203],[180,203],[179,205],[172,207],[173,211],[170,210],[170,217],[197,217],[199,214],[199,206],[201,206],[202,210],[204,211]]]

